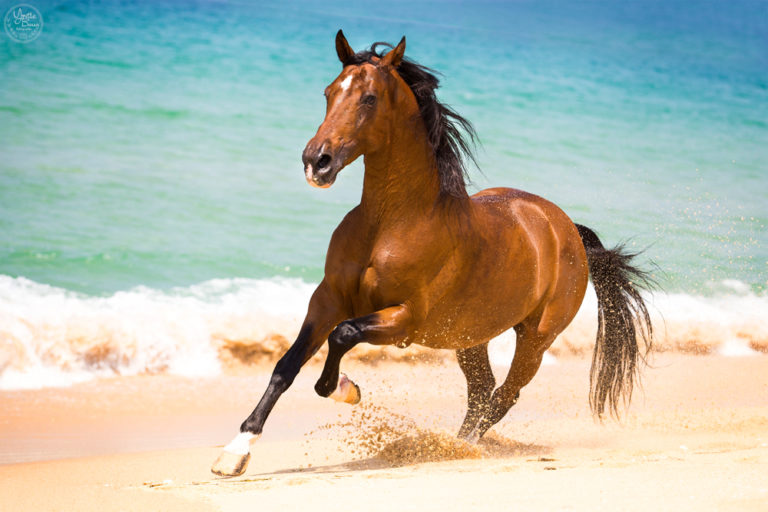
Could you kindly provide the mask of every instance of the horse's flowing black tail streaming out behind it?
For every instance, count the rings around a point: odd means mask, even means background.
[[[589,273],[597,294],[597,340],[589,373],[589,405],[602,417],[608,402],[618,416],[620,398],[628,404],[639,377],[639,363],[653,343],[653,327],[640,288],[653,282],[632,265],[637,254],[623,245],[606,249],[594,231],[576,224],[587,251]],[[634,282],[633,282],[634,281]]]

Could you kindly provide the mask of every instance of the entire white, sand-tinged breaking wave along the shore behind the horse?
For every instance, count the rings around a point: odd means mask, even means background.
[[[314,287],[299,279],[215,279],[167,291],[137,287],[93,297],[0,275],[0,389],[115,375],[216,375],[271,363],[296,336]],[[726,356],[768,352],[768,297],[738,281],[719,289],[712,297],[649,296],[655,350]],[[590,289],[544,363],[590,354],[596,317]],[[495,367],[508,367],[514,344],[513,331],[491,342]],[[361,345],[349,357],[377,363],[442,361],[453,355],[418,346]]]

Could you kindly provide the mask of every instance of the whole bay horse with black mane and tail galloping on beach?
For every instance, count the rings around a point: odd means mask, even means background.
[[[576,315],[590,274],[598,300],[590,405],[599,417],[606,406],[617,413],[652,341],[639,293],[647,275],[633,266],[635,255],[604,248],[539,196],[510,188],[469,196],[465,164],[475,132],[437,100],[434,72],[404,57],[405,37],[394,48],[376,43],[355,53],[339,31],[336,52],[342,71],[325,90],[325,120],[304,149],[304,174],[310,185],[329,187],[362,155],[362,198],[331,237],[296,341],[213,473],[245,471],[278,398],[326,340],[315,390],[349,403],[360,390],[339,364],[358,343],[455,350],[468,402],[458,435],[477,441],[515,404]],[[509,328],[515,355],[494,389],[488,341]]]

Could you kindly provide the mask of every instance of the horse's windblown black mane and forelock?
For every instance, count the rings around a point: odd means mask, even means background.
[[[374,43],[370,49],[352,55],[344,62],[344,66],[373,62],[374,58],[380,59],[384,54],[378,49],[382,46],[392,48],[389,43]],[[469,174],[466,160],[471,160],[477,165],[472,152],[477,134],[472,123],[437,101],[435,90],[440,81],[434,70],[404,58],[397,67],[397,73],[411,88],[419,104],[429,144],[435,152],[440,194],[467,197]]]

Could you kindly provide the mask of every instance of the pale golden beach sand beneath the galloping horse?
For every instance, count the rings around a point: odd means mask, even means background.
[[[267,369],[0,392],[0,510],[768,510],[768,356],[653,363],[604,425],[588,361],[544,366],[475,447],[448,435],[455,364],[344,365],[355,407],[317,397],[310,366],[233,479],[209,467]]]

